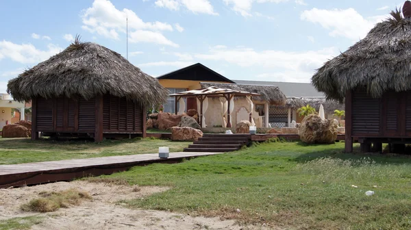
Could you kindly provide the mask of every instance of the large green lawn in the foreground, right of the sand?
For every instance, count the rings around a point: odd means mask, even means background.
[[[411,158],[345,154],[343,149],[344,143],[266,143],[104,177],[172,187],[125,201],[132,208],[290,229],[411,229]],[[375,195],[366,196],[367,190]]]

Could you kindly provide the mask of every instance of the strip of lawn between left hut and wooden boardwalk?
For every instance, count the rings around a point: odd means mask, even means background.
[[[177,152],[182,151],[190,143],[192,142],[171,142],[150,138],[105,140],[101,143],[84,140],[32,141],[25,138],[0,138],[0,164],[157,153],[160,146],[169,146],[171,152]]]

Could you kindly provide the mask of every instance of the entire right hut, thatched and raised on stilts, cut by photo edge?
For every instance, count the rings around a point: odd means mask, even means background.
[[[406,1],[403,16],[399,10],[391,12],[312,77],[328,99],[345,99],[347,153],[353,151],[353,138],[362,151],[381,151],[382,142],[411,142],[410,5]]]

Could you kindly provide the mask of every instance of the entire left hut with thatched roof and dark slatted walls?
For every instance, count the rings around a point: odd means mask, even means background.
[[[49,136],[145,136],[146,107],[168,90],[119,53],[76,38],[61,53],[8,83],[17,101],[32,101],[32,139]]]

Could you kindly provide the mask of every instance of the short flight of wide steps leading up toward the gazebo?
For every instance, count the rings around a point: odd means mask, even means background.
[[[184,149],[184,152],[232,152],[249,144],[250,134],[204,134]]]

